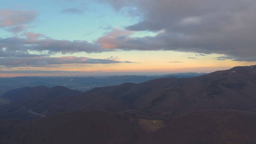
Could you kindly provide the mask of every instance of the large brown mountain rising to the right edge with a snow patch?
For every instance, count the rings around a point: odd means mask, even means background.
[[[94,88],[84,95],[108,95],[106,97],[125,103],[123,106],[128,109],[153,114],[216,108],[255,111],[255,88],[256,66],[250,66],[194,78],[171,77],[140,84]]]

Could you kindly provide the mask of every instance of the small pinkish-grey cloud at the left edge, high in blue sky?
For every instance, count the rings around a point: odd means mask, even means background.
[[[0,9],[0,28],[18,33],[27,29],[36,18],[36,11]]]

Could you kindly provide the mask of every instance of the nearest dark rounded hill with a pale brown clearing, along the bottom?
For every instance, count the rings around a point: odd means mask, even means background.
[[[238,110],[197,111],[165,119],[76,111],[33,122],[0,121],[0,143],[255,144],[255,121],[255,113]]]

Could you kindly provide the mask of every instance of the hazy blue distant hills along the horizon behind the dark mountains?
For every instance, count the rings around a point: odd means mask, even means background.
[[[86,91],[95,87],[119,85],[124,82],[140,83],[153,79],[174,76],[177,78],[188,78],[204,75],[206,73],[174,73],[157,76],[93,76],[93,77],[13,77],[0,78],[0,95],[12,89],[36,86],[64,86],[73,90]]]

